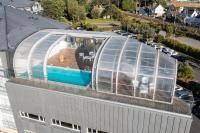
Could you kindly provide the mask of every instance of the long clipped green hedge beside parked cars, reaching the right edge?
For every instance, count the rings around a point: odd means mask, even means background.
[[[165,39],[163,42],[167,47],[170,47],[176,51],[182,52],[184,54],[187,54],[189,56],[192,56],[196,59],[200,59],[200,49],[198,48],[193,48],[191,46],[188,46],[186,44],[180,43],[177,40],[174,39]]]

